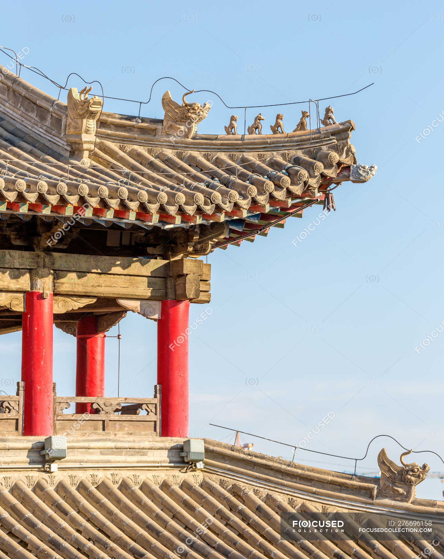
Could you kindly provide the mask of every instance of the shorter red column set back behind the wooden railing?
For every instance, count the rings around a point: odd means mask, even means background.
[[[77,323],[76,396],[105,395],[105,334],[97,333],[96,317]],[[91,404],[76,404],[76,414],[95,414]]]

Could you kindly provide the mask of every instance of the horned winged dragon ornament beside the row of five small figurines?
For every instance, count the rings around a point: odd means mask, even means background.
[[[165,116],[163,117],[162,134],[175,136],[178,139],[195,136],[197,125],[208,115],[211,105],[208,102],[205,102],[204,105],[186,102],[185,97],[191,93],[194,93],[194,89],[183,94],[181,106],[172,100],[170,91],[163,93],[162,107]]]

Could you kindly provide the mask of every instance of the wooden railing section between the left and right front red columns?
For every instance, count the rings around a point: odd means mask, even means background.
[[[153,398],[57,396],[53,385],[53,434],[121,433],[160,437],[160,385]],[[92,404],[95,413],[63,413],[71,404]]]

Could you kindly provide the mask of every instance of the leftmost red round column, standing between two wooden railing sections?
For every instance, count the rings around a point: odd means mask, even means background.
[[[22,381],[25,381],[24,435],[53,434],[53,294],[25,297],[22,322]]]

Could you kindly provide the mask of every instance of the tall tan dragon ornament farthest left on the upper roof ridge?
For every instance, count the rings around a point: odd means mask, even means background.
[[[97,135],[97,121],[102,111],[103,101],[96,95],[88,98],[90,88],[78,92],[76,87],[68,91],[68,114],[66,119],[66,139],[74,149],[74,157],[87,164],[88,154],[94,149]]]

